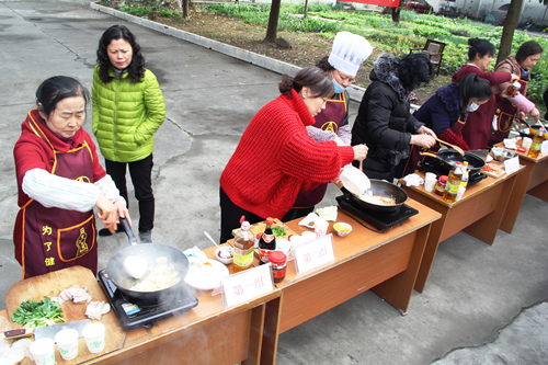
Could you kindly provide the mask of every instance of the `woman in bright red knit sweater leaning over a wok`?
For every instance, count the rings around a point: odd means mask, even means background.
[[[282,218],[299,191],[339,176],[345,164],[363,160],[367,147],[317,142],[306,127],[333,95],[331,78],[318,67],[284,75],[282,95],[256,113],[220,176],[220,241],[232,238],[240,217],[250,224]]]

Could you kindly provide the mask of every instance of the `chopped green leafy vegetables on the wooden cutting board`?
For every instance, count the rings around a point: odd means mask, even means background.
[[[11,316],[13,322],[23,324],[25,328],[46,327],[65,322],[62,309],[58,303],[52,301],[49,297],[44,300],[25,300]]]

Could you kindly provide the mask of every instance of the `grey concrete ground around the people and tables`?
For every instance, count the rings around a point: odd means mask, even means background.
[[[0,1],[0,308],[21,277],[11,150],[44,79],[91,87],[102,32],[123,21],[88,1]],[[167,119],[156,135],[153,241],[181,250],[219,237],[218,179],[254,113],[278,95],[279,75],[140,25],[136,35],[160,81]],[[351,104],[351,121],[357,103]],[[88,111],[91,112],[90,110]],[[84,125],[90,132],[91,119]],[[330,187],[322,205],[334,205]],[[137,204],[130,198],[137,220]],[[512,235],[492,246],[464,232],[441,243],[424,293],[407,316],[370,292],[283,333],[278,364],[548,364],[548,204],[526,196]],[[136,229],[135,229],[136,230]],[[100,269],[127,238],[101,238]],[[349,277],[352,280],[352,277]],[[313,306],[313,304],[310,304]]]

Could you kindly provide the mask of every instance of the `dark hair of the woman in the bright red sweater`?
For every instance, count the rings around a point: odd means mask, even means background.
[[[292,89],[299,92],[304,87],[310,88],[311,98],[329,98],[335,92],[331,78],[326,71],[316,66],[305,67],[297,72],[295,78],[284,75],[282,82],[278,84],[279,93],[287,96],[292,94]]]

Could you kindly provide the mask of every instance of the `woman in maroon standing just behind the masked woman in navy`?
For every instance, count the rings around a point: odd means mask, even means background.
[[[517,80],[517,77],[511,72],[486,72],[494,55],[494,46],[489,41],[470,38],[468,45],[470,46],[468,49],[469,64],[463,66],[453,76],[453,82],[457,82],[471,72],[478,75],[481,79],[488,80],[492,87]],[[453,134],[452,129],[447,129],[447,135],[444,134],[439,138],[455,145],[461,145],[464,139],[470,149],[487,148],[491,136],[495,104],[495,95],[493,95],[487,103],[479,105],[477,110],[472,110],[473,113],[470,113],[463,126],[461,136]]]

